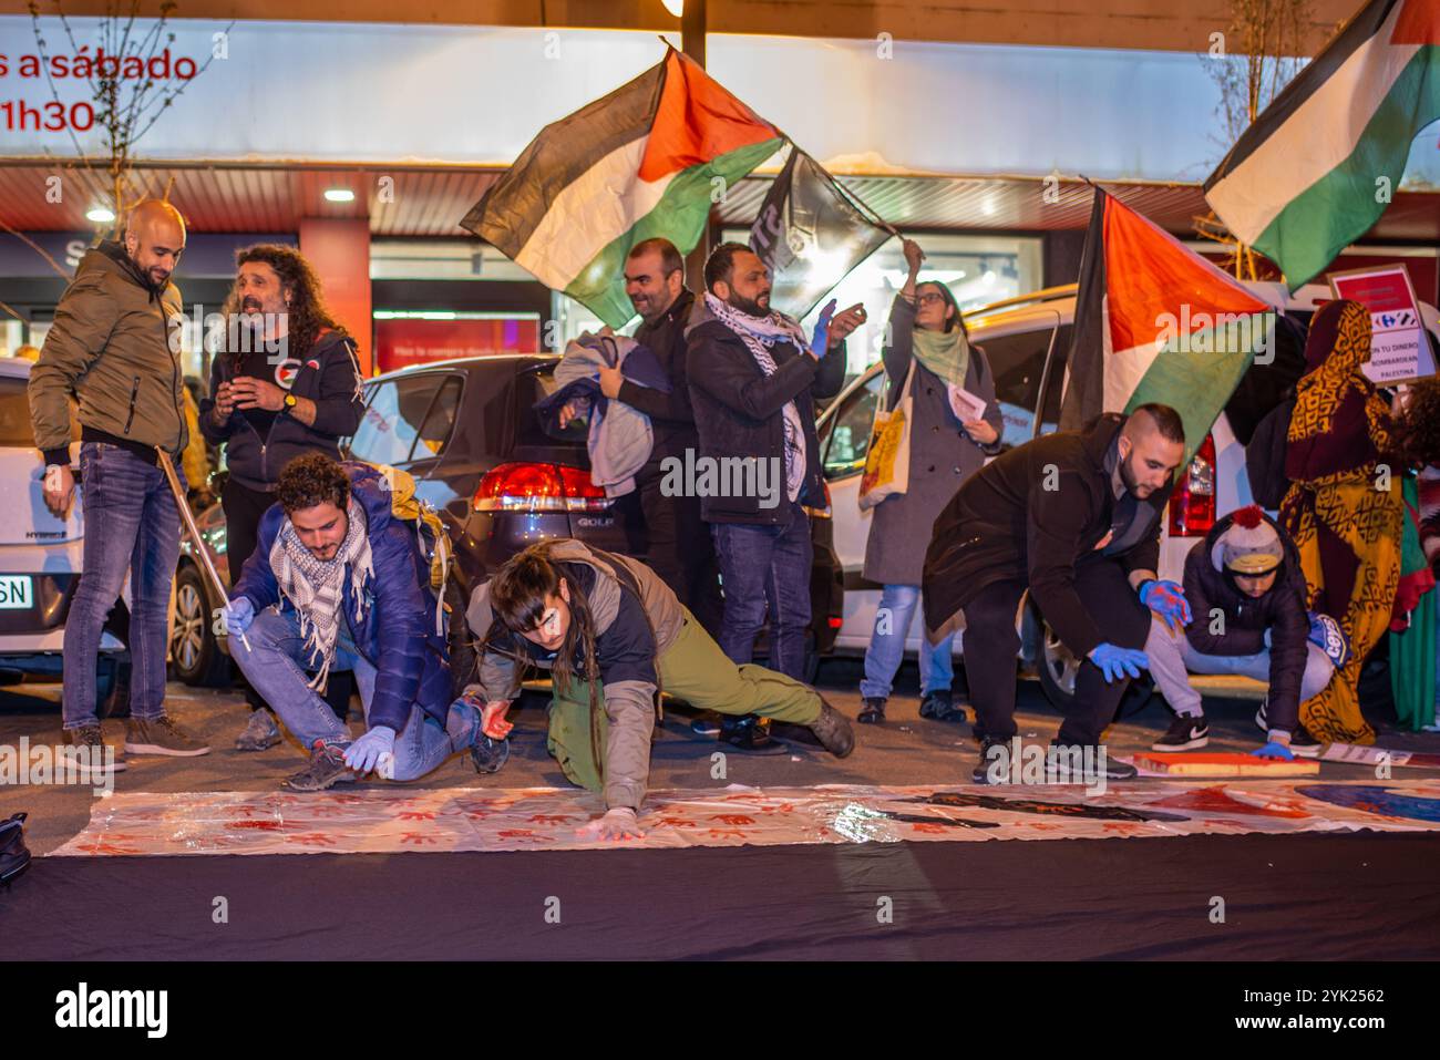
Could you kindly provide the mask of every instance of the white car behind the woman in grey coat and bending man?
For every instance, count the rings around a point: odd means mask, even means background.
[[[1280,393],[1303,373],[1303,328],[1318,305],[1332,295],[1320,284],[1302,287],[1290,295],[1282,284],[1246,284],[1261,300],[1283,307],[1277,328],[1277,350],[1272,364],[1250,369],[1241,387],[1253,386]],[[971,341],[985,347],[995,372],[996,398],[1005,418],[1002,442],[1020,445],[1057,429],[1066,360],[1074,324],[1076,285],[1056,287],[1011,298],[965,314]],[[1440,337],[1440,315],[1423,304],[1421,314],[1431,337]],[[1267,374],[1257,374],[1267,373]],[[863,654],[870,645],[880,586],[863,576],[870,513],[858,504],[860,474],[865,465],[870,426],[884,395],[884,366],[876,363],[854,379],[818,421],[821,462],[834,513],[835,554],[845,580],[844,621],[835,639],[837,654]],[[1171,497],[1168,518],[1161,530],[1161,578],[1179,580],[1185,556],[1204,537],[1215,518],[1251,503],[1246,477],[1244,445],[1236,438],[1228,409],[1221,412],[1207,435],[1185,478]],[[1251,423],[1253,428],[1253,423]],[[1022,657],[1035,664],[1045,693],[1064,706],[1074,693],[1077,660],[1044,626],[1034,612],[1027,624]],[[920,619],[910,628],[906,655],[920,650]],[[963,631],[955,638],[960,652]],[[1236,681],[1230,678],[1230,683]],[[1221,681],[1224,684],[1224,681]],[[1259,687],[1259,686],[1257,686]]]

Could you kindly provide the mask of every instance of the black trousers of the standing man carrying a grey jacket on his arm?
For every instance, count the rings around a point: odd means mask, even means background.
[[[700,517],[698,497],[665,497],[661,481],[660,462],[652,461],[635,475],[635,490],[616,503],[629,554],[644,560],[719,638],[724,602],[710,524]]]

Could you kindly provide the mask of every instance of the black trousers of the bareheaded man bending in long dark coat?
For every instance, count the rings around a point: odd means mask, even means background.
[[[1025,586],[996,582],[965,605],[965,675],[975,707],[976,729],[996,740],[1015,729],[1015,612]],[[1143,648],[1151,612],[1130,588],[1129,576],[1115,560],[1086,559],[1076,565],[1076,592],[1086,602],[1103,641],[1120,648]],[[1129,678],[1106,684],[1089,658],[1076,675],[1076,700],[1060,724],[1060,743],[1094,745],[1115,720]]]

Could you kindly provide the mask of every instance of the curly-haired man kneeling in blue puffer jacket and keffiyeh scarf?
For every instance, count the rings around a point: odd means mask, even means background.
[[[451,671],[429,560],[392,514],[384,475],[324,454],[297,457],[225,609],[230,655],[311,750],[285,781],[324,791],[372,771],[410,781],[474,739],[478,713],[451,710]],[[354,670],[366,732],[351,739],[321,697]],[[307,674],[308,671],[308,674]]]

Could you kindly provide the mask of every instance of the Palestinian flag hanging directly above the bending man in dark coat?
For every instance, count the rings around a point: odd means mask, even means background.
[[[1175,236],[1096,189],[1080,259],[1060,428],[1102,412],[1169,405],[1185,459],[1257,353],[1274,356],[1274,313]]]

